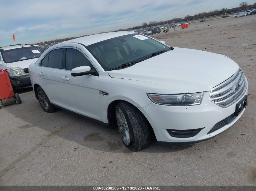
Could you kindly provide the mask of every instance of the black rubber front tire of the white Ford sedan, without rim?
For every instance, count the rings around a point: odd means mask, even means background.
[[[116,104],[116,113],[118,109],[124,114],[131,139],[129,145],[126,145],[121,137],[123,144],[131,151],[140,151],[147,148],[151,142],[151,137],[150,125],[145,116],[135,106],[125,101],[119,101]]]

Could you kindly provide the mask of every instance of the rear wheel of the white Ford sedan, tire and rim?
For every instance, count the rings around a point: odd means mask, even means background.
[[[47,95],[45,94],[45,91],[41,87],[37,88],[36,95],[38,97],[41,107],[45,112],[53,113],[56,111],[56,108],[52,105]]]

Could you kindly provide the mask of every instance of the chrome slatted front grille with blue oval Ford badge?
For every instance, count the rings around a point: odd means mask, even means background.
[[[239,69],[226,81],[212,89],[210,100],[220,107],[228,107],[240,99],[244,95],[246,89],[247,83],[245,76]]]

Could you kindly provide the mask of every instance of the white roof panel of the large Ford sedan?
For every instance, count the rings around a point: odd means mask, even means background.
[[[127,34],[136,34],[135,32],[128,32],[128,31],[121,31],[121,32],[110,32],[110,33],[101,33],[101,34],[93,34],[89,35],[86,37],[80,37],[80,38],[75,38],[72,40],[67,40],[65,42],[59,43],[59,44],[64,44],[64,43],[81,43],[85,46],[89,46],[94,43],[101,42],[103,40],[108,40],[111,38],[115,37],[120,37],[123,35]]]

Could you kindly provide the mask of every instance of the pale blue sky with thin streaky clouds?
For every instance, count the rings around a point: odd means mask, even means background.
[[[78,37],[166,21],[242,0],[1,0],[0,46]],[[248,4],[255,0],[246,0]],[[15,33],[16,41],[12,39]]]

